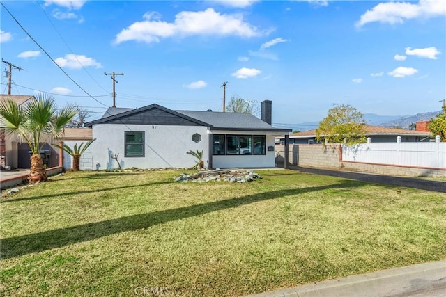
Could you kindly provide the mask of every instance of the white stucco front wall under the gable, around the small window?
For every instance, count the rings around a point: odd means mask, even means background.
[[[144,132],[144,157],[125,157],[125,131]],[[192,135],[201,135],[201,141],[192,141]],[[122,168],[188,168],[197,160],[189,150],[203,150],[203,161],[208,164],[207,127],[170,125],[93,125],[93,167],[111,170],[118,167],[110,154],[119,154]]]

